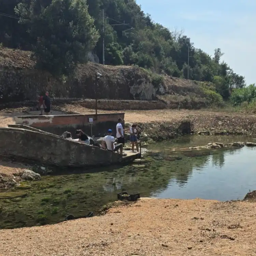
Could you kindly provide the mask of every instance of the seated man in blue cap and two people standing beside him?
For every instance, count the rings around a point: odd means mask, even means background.
[[[118,118],[118,123],[116,125],[116,138],[117,142],[115,142],[115,138],[112,136],[112,130],[108,130],[108,135],[104,137],[102,140],[102,147],[105,148],[106,150],[113,151],[120,153],[123,155],[123,147],[125,145],[125,137],[124,137],[124,132],[129,131],[130,133],[130,141],[132,144],[132,152],[134,152],[134,145],[136,146],[137,152],[139,152],[139,145],[138,145],[138,138],[137,135],[139,133],[139,128],[137,127],[136,124],[133,124],[131,127],[124,129],[123,128],[123,119]]]

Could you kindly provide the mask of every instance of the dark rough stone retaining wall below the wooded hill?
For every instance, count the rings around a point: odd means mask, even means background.
[[[102,73],[99,81],[96,72]],[[75,76],[62,81],[48,72],[0,66],[0,104],[37,100],[46,90],[52,98],[152,100],[156,96],[149,77],[131,68],[108,72],[108,68],[88,63],[80,65]]]

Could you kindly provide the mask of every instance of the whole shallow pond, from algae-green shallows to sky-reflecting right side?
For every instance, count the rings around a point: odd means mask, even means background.
[[[177,153],[189,146],[234,141],[255,142],[238,136],[181,137],[151,145],[141,163],[25,182],[0,193],[0,228],[52,224],[63,221],[67,214],[97,213],[104,204],[115,201],[120,191],[156,198],[242,199],[256,189],[256,147],[217,150],[201,156],[198,151]],[[182,159],[169,161],[173,155]]]

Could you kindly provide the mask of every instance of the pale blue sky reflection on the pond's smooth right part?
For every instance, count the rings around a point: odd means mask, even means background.
[[[244,147],[219,150],[200,157],[200,161],[194,158],[194,163],[184,159],[183,171],[178,172],[166,188],[152,191],[151,196],[221,201],[242,199],[249,189],[256,188],[255,155],[256,148]]]

